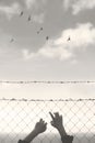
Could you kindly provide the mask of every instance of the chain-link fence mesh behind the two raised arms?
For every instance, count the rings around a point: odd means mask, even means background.
[[[43,118],[47,131],[37,136],[34,143],[61,143],[60,135],[50,125],[51,112],[63,116],[63,124],[73,143],[95,143],[95,99],[67,100],[0,100],[0,143],[17,143]]]

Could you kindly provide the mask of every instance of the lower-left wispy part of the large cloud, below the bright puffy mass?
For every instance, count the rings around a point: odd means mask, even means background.
[[[23,56],[24,59],[32,59],[32,58],[39,58],[39,57],[45,57],[45,58],[58,58],[60,61],[62,59],[68,59],[72,56],[70,52],[68,52],[66,48],[60,47],[55,47],[55,44],[45,44],[44,47],[39,48],[36,53],[29,52],[28,50],[24,48]]]

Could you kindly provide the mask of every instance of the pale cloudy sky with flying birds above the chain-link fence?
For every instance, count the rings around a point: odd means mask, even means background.
[[[0,0],[0,80],[95,80],[94,13],[95,0]],[[0,97],[94,98],[94,89],[0,84]]]

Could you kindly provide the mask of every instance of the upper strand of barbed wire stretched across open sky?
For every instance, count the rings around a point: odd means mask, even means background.
[[[0,80],[0,84],[95,84],[95,80]]]

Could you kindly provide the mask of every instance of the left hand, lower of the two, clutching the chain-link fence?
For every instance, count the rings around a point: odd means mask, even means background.
[[[35,130],[36,133],[39,134],[39,133],[45,132],[46,129],[47,129],[47,123],[43,119],[40,119],[39,122],[36,123],[34,130]]]

